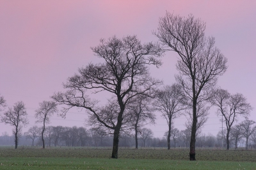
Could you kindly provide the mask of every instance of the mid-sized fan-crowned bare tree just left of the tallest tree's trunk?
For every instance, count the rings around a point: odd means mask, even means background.
[[[172,86],[164,86],[163,89],[157,91],[157,97],[154,102],[157,111],[162,113],[162,116],[168,123],[167,148],[170,150],[172,122],[180,116],[180,111],[186,109],[184,106],[185,98],[182,87],[178,84]]]

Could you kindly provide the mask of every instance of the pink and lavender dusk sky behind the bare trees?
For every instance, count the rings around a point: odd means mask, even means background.
[[[141,42],[156,42],[152,31],[166,11],[187,17],[193,14],[206,23],[205,34],[216,38],[216,47],[228,59],[228,70],[218,86],[230,93],[242,93],[254,108],[250,120],[256,121],[256,1],[0,1],[0,94],[8,107],[23,101],[29,125],[35,124],[39,103],[51,100],[54,92],[63,91],[62,83],[88,63],[102,62],[90,47],[100,38],[137,35]],[[173,84],[179,56],[166,52],[160,68],[150,70],[152,77]],[[102,95],[100,99],[108,98]],[[6,111],[7,108],[4,110]],[[0,114],[3,114],[1,112]],[[54,114],[52,126],[84,126],[86,113],[68,112],[66,119]],[[244,118],[239,118],[239,122]],[[174,121],[184,130],[186,118]],[[0,123],[0,135],[12,134],[12,127]],[[168,130],[166,121],[157,114],[150,125],[156,137]],[[87,127],[90,128],[90,127]],[[221,130],[216,108],[211,109],[203,134],[216,135]]]

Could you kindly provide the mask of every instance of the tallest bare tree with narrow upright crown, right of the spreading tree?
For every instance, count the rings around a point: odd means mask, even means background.
[[[204,31],[205,22],[195,19],[193,15],[180,17],[166,12],[159,19],[158,30],[154,32],[166,50],[177,52],[180,57],[176,65],[180,74],[176,80],[191,100],[189,103],[193,109],[190,160],[196,160],[196,106],[209,99],[218,76],[227,70],[227,59],[214,47],[214,38],[207,38]]]

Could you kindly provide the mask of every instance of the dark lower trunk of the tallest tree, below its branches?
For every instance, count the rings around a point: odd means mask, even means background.
[[[190,140],[190,151],[189,160],[196,160],[196,101],[193,101],[193,123],[191,128],[191,140]]]

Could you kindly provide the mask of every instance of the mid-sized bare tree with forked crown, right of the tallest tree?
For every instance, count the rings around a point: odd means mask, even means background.
[[[217,114],[224,118],[227,128],[227,150],[229,150],[229,135],[233,123],[237,121],[237,116],[239,115],[247,117],[252,110],[252,106],[247,103],[246,98],[242,94],[230,95],[227,90],[220,88],[214,91],[211,103],[218,108]]]

